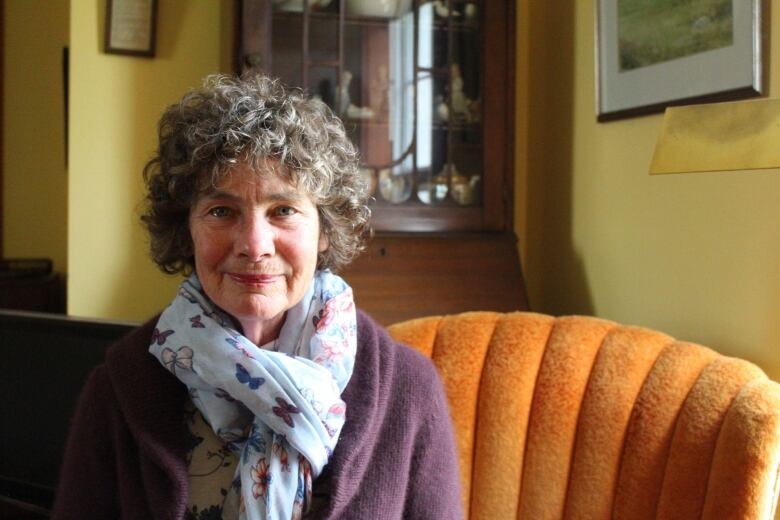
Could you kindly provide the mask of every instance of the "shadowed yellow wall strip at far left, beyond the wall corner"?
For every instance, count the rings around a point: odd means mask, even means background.
[[[5,0],[3,253],[66,270],[62,49],[69,0]],[[45,35],[42,38],[41,35]]]

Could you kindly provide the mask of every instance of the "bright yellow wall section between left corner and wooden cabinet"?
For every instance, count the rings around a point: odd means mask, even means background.
[[[70,314],[141,320],[173,295],[178,278],[148,259],[141,172],[162,110],[206,74],[229,68],[231,5],[161,0],[157,55],[148,59],[103,53],[105,0],[72,3]]]

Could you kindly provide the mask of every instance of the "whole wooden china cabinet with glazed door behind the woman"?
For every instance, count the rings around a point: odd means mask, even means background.
[[[389,324],[526,309],[512,232],[514,3],[241,0],[236,67],[322,98],[358,146],[375,237],[343,273]]]

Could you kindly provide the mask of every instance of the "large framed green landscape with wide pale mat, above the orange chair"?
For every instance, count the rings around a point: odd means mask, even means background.
[[[596,0],[599,121],[762,93],[761,0]]]

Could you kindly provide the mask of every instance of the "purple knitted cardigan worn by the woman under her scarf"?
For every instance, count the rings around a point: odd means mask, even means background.
[[[184,518],[186,387],[148,353],[157,319],[112,346],[73,418],[55,519]],[[358,312],[347,421],[317,518],[462,518],[449,411],[430,362]]]

